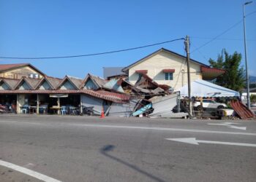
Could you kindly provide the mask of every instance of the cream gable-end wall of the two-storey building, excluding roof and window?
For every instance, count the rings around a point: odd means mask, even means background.
[[[165,80],[165,73],[163,69],[175,69],[173,73],[173,80]],[[135,73],[136,70],[148,70],[148,76],[151,77],[158,84],[167,84],[178,90],[187,84],[187,62],[186,58],[181,58],[178,55],[173,55],[170,52],[159,52],[147,58],[142,63],[138,63],[129,69],[129,82],[135,84],[138,80],[139,74]],[[202,79],[200,73],[200,65],[190,62],[190,78],[191,82],[196,79]]]

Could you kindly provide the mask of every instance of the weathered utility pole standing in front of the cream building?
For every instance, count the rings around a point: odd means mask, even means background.
[[[191,84],[190,84],[190,66],[189,66],[189,36],[186,36],[184,41],[185,50],[187,52],[187,85],[188,85],[188,94],[189,94],[189,115],[193,116],[192,114],[192,100],[191,100]]]

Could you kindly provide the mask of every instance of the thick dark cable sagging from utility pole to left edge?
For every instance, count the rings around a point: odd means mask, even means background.
[[[125,52],[125,51],[129,51],[129,50],[138,50],[138,49],[143,49],[143,48],[146,48],[146,47],[152,47],[152,46],[156,46],[156,45],[160,45],[160,44],[167,44],[167,43],[170,43],[172,41],[178,41],[178,40],[184,40],[184,38],[173,39],[173,40],[170,40],[170,41],[162,41],[162,42],[159,42],[159,43],[156,43],[156,44],[148,44],[148,45],[145,45],[145,46],[132,47],[132,48],[124,49],[124,50],[113,50],[113,51],[109,51],[109,52],[99,52],[99,53],[93,53],[93,54],[87,54],[87,55],[64,55],[64,56],[35,57],[35,58],[31,58],[31,57],[20,58],[20,57],[4,57],[4,56],[0,56],[0,58],[1,59],[20,59],[20,60],[42,60],[42,59],[88,57],[88,56],[94,56],[94,55],[107,55],[107,54],[112,54],[112,53],[116,53],[116,52]]]

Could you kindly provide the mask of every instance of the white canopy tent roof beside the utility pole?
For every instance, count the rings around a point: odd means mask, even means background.
[[[188,97],[188,85],[179,90],[181,97]],[[191,82],[191,97],[217,98],[217,97],[239,97],[239,92],[221,87],[217,84],[197,79]]]

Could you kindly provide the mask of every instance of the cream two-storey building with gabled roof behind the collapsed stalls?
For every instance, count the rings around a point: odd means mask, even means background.
[[[187,60],[183,55],[164,48],[132,63],[122,71],[129,74],[129,82],[135,84],[141,74],[146,74],[157,84],[166,84],[178,90],[187,84]],[[196,60],[190,60],[191,82],[197,79],[211,80],[225,71],[210,68]]]

